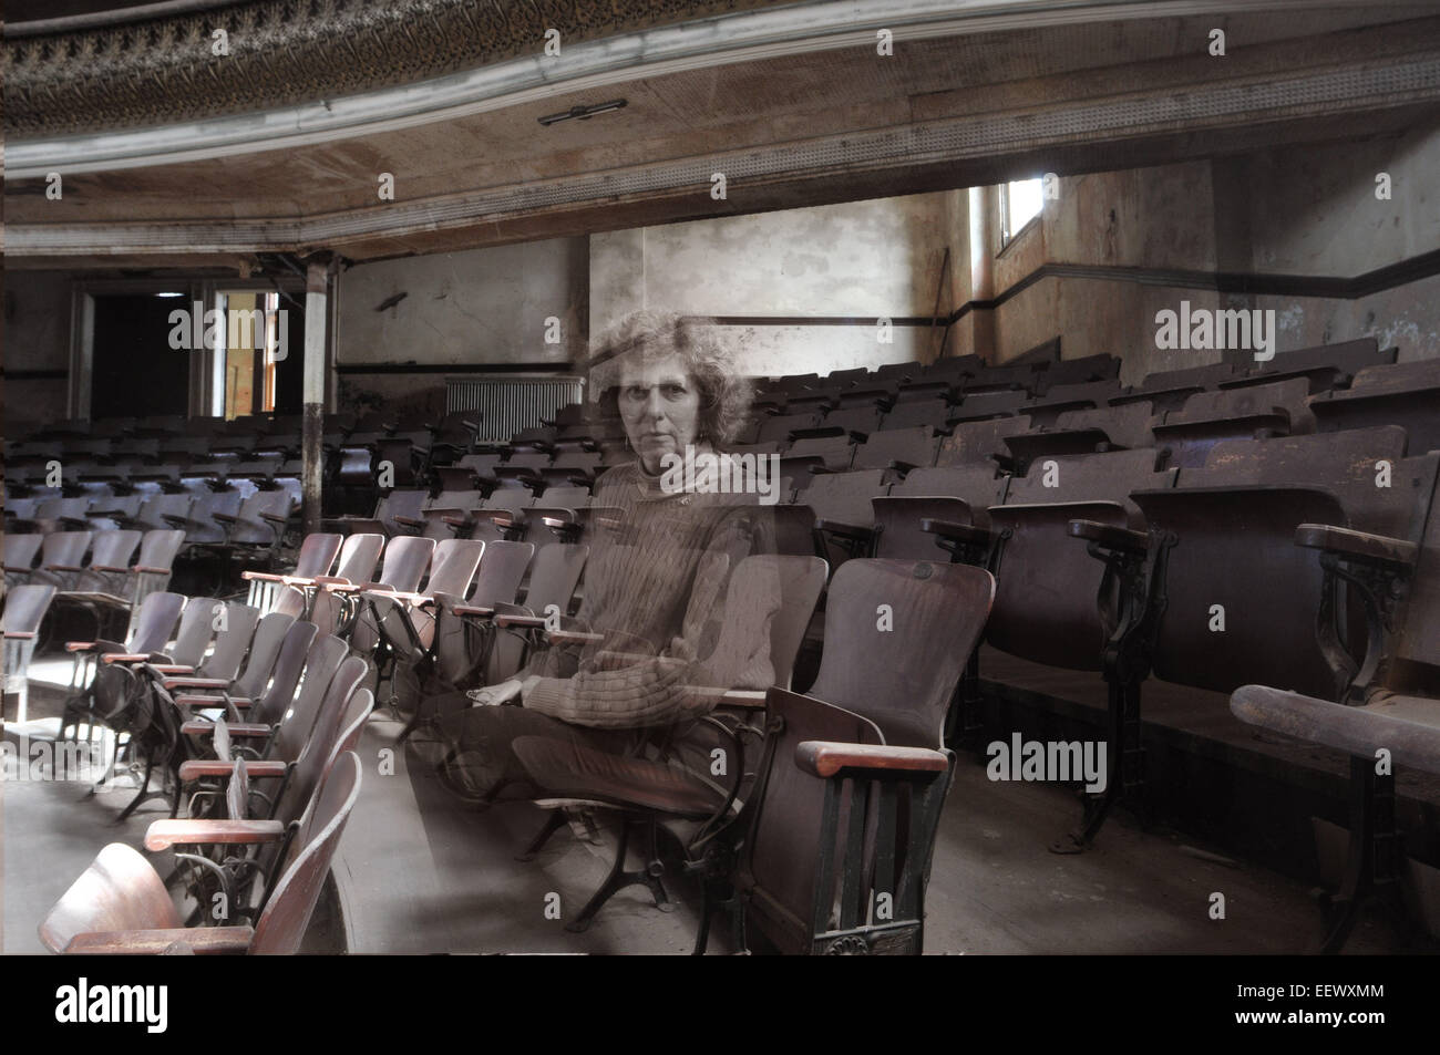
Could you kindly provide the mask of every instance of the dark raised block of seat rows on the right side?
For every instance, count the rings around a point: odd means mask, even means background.
[[[1349,751],[1351,865],[1320,943],[1336,950],[1367,895],[1403,900],[1390,766],[1440,771],[1440,363],[1377,354],[1282,354],[1260,376],[1202,368],[1106,403],[1086,386],[1094,406],[1053,425],[956,422],[884,465],[860,443],[796,474],[783,544],[832,560],[940,545],[996,576],[988,643],[1103,674],[1112,771],[1057,849],[1140,790],[1152,672]]]

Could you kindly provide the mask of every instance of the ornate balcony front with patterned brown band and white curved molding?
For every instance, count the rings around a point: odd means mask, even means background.
[[[1299,16],[1332,3],[1264,7]],[[179,0],[132,10],[168,6]],[[177,160],[164,135],[141,142],[166,128],[199,134],[207,144],[199,153],[217,157],[236,153],[246,132],[258,135],[248,150],[291,147],[494,109],[521,89],[588,89],[615,82],[616,65],[651,73],[873,45],[876,27],[923,39],[1244,9],[1240,0],[233,0],[96,29],[63,29],[71,19],[53,20],[59,32],[7,26],[4,127],[20,147],[56,154],[58,166],[130,167],[144,163],[141,147],[158,157],[151,164]],[[228,33],[223,58],[212,55],[216,29]],[[564,49],[554,68],[539,62],[547,29]],[[117,137],[135,141],[117,154]],[[76,147],[120,164],[85,163]]]

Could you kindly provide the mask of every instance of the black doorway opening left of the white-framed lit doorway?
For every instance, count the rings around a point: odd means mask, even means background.
[[[181,298],[96,295],[91,417],[190,412],[190,351],[170,347],[170,312]]]

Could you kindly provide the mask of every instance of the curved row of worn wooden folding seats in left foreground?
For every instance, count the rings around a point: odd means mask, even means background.
[[[166,592],[143,602],[125,642],[68,649],[92,676],[78,674],[60,737],[114,734],[99,786],[121,763],[143,764],[122,816],[171,799],[144,848],[174,851],[184,898],[145,855],[109,843],[40,940],[69,954],[300,951],[359,797],[364,661],[292,615]]]

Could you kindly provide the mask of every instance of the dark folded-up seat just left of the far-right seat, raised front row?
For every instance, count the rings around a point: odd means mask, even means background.
[[[1302,524],[1320,524],[1414,545],[1440,453],[1404,450],[1397,426],[1227,440],[1204,468],[1181,469],[1174,489],[1133,494],[1148,524],[1142,540],[1071,525],[1138,602],[1107,651],[1113,668],[1130,672],[1135,724],[1149,669],[1221,692],[1254,682],[1341,698],[1378,662],[1362,629],[1378,599],[1339,592],[1328,561],[1295,540]]]

